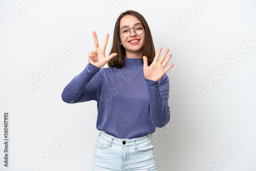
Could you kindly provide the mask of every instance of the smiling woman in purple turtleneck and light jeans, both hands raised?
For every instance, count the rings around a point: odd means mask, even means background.
[[[97,101],[100,130],[93,170],[156,170],[150,134],[169,121],[169,80],[165,74],[172,54],[155,54],[146,20],[135,11],[116,22],[111,54],[105,57],[109,34],[102,47],[93,32],[95,50],[87,67],[66,86],[63,101]],[[159,59],[159,61],[158,61]],[[102,68],[108,63],[110,68]]]

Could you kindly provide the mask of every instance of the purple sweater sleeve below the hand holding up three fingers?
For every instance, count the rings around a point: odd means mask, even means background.
[[[89,62],[87,67],[65,87],[61,94],[62,100],[67,103],[97,101],[102,86],[102,76],[99,71],[100,69]]]

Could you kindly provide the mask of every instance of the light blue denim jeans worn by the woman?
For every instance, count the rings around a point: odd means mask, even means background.
[[[102,131],[94,148],[92,170],[156,171],[150,136],[119,139]]]

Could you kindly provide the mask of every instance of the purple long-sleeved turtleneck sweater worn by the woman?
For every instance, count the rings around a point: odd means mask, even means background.
[[[62,100],[97,101],[96,127],[121,139],[152,134],[169,122],[169,79],[145,79],[143,61],[125,58],[125,67],[98,69],[91,63],[66,86]]]

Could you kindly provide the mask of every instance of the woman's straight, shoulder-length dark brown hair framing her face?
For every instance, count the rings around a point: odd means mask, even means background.
[[[123,68],[125,65],[125,63],[124,63],[125,49],[121,45],[120,34],[119,34],[120,20],[125,15],[133,15],[133,16],[137,17],[140,20],[141,24],[145,28],[145,30],[144,30],[145,40],[143,42],[143,54],[142,55],[147,57],[147,62],[148,62],[148,66],[149,66],[153,62],[155,54],[156,54],[155,48],[154,48],[154,43],[153,43],[153,38],[152,38],[152,35],[150,32],[150,28],[148,27],[145,18],[140,13],[138,13],[136,11],[132,11],[132,10],[123,12],[121,15],[119,15],[119,17],[116,20],[116,25],[115,25],[115,29],[114,29],[114,37],[113,37],[113,45],[112,45],[110,54],[117,53],[117,56],[113,57],[108,62],[108,66],[116,67],[116,68]],[[141,60],[143,60],[143,58],[141,58]]]

